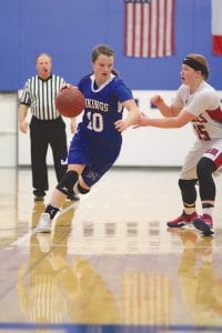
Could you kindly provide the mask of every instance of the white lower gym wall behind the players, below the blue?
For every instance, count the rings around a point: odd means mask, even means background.
[[[151,117],[161,117],[158,109],[151,108],[150,98],[160,93],[171,102],[174,91],[133,91],[139,108]],[[222,92],[220,91],[220,94]],[[30,165],[30,138],[18,130],[18,93],[0,93],[0,167]],[[28,115],[28,121],[30,114]],[[71,140],[69,119],[67,122],[68,143]],[[123,132],[123,147],[115,163],[119,167],[180,167],[195,140],[191,124],[181,129],[161,130],[155,128],[129,129]],[[52,164],[51,150],[48,163]]]

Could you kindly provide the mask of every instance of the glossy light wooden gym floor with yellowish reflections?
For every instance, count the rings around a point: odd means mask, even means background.
[[[34,203],[30,170],[0,170],[0,332],[222,332],[222,180],[202,236],[165,226],[178,175],[113,169],[43,234],[50,193]]]

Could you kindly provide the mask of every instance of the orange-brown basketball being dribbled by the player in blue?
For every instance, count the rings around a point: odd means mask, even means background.
[[[77,117],[84,109],[84,95],[73,85],[65,87],[56,97],[56,108],[61,115]]]

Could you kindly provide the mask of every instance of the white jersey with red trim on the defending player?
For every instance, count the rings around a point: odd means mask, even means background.
[[[221,101],[215,89],[203,81],[194,93],[181,84],[178,89],[173,105],[196,115],[192,125],[198,139],[202,142],[222,138]]]

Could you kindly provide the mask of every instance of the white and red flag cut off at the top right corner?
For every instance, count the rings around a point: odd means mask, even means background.
[[[211,0],[213,54],[222,56],[222,0]]]

